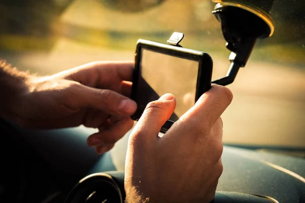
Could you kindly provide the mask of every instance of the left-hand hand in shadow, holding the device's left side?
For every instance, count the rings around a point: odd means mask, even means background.
[[[133,63],[93,62],[47,77],[29,77],[10,101],[9,118],[24,127],[62,128],[83,124],[98,128],[88,145],[110,150],[133,126]],[[125,95],[125,96],[124,96]]]

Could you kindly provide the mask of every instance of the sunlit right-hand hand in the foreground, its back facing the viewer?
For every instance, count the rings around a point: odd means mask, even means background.
[[[149,103],[129,138],[127,201],[209,202],[223,171],[220,116],[232,98],[228,88],[212,85],[162,138],[175,98],[165,94]]]

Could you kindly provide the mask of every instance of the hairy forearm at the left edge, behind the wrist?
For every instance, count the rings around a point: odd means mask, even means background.
[[[6,61],[0,60],[0,116],[14,117],[13,104],[18,96],[29,89],[28,81],[31,76],[11,67]]]

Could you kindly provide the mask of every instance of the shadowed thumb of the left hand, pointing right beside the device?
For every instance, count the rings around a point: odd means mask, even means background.
[[[104,111],[111,115],[131,116],[137,109],[132,99],[109,89],[96,89],[82,85],[80,106]]]

